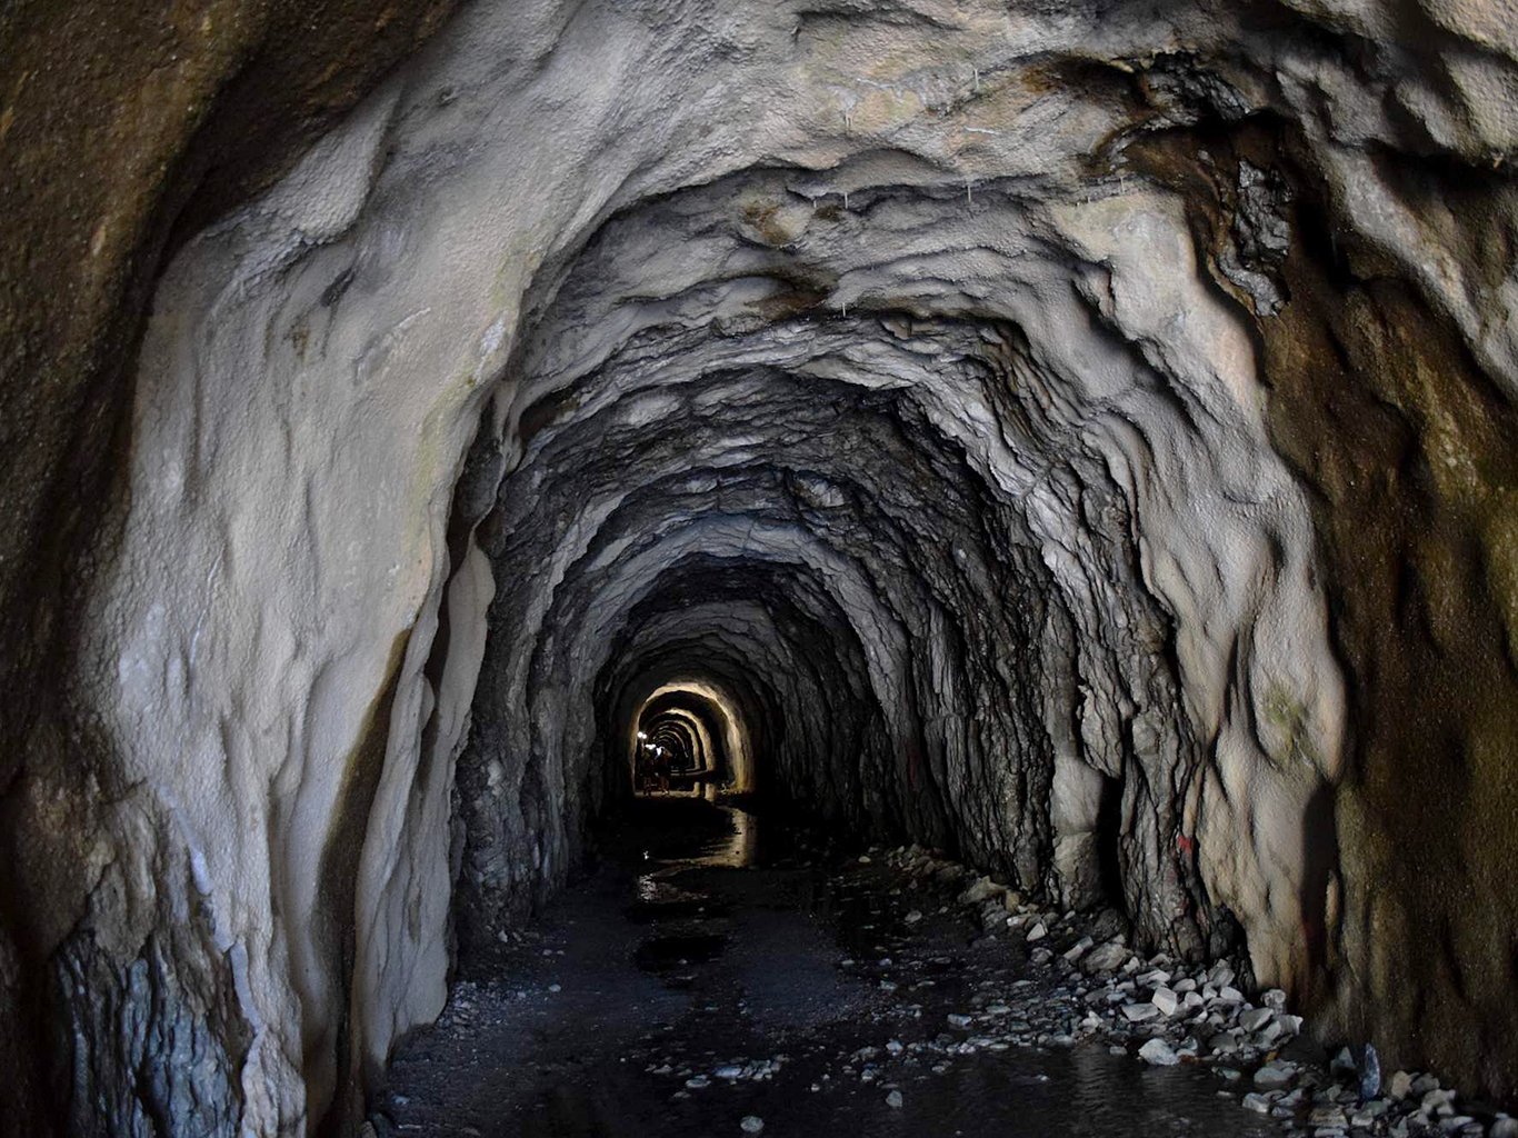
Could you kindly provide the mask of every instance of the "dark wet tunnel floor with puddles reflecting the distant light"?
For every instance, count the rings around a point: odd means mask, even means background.
[[[1058,1030],[1038,1000],[1055,980],[902,886],[741,806],[641,800],[592,876],[502,948],[501,979],[457,985],[402,1047],[378,1129],[1281,1133],[1201,1068],[1149,1067],[1099,1039],[1008,1042]],[[972,1011],[973,1027],[950,1020]]]

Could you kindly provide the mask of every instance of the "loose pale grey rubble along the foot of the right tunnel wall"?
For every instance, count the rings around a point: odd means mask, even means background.
[[[1072,1045],[1102,1038],[1114,1052],[1145,1062],[1196,1062],[1236,1088],[1242,1106],[1283,1120],[1289,1133],[1313,1138],[1441,1133],[1518,1138],[1518,1120],[1501,1112],[1465,1112],[1454,1091],[1425,1073],[1397,1071],[1384,1083],[1374,1048],[1356,1062],[1348,1048],[1328,1064],[1283,1056],[1302,1032],[1286,1009],[1286,992],[1251,998],[1240,960],[1187,965],[1160,953],[1140,957],[1116,913],[1057,912],[1016,889],[976,877],[921,847],[871,850],[914,879],[917,888],[953,895],[972,909],[987,936],[1022,939],[1038,977],[1013,994],[981,994],[967,1014],[947,1017],[967,1032],[972,1050],[996,1042]],[[914,913],[905,915],[912,924]],[[1307,1045],[1293,1048],[1310,1056]]]

